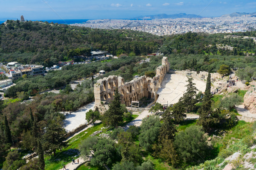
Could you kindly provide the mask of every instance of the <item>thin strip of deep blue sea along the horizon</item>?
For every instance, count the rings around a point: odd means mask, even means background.
[[[91,20],[91,19],[79,19],[79,20],[32,20],[32,21],[47,21],[48,23],[58,23],[58,24],[81,24],[85,23],[86,21]],[[114,19],[113,19],[114,20]],[[119,20],[151,20],[151,19],[119,19]],[[0,21],[1,23],[4,23],[5,21]]]

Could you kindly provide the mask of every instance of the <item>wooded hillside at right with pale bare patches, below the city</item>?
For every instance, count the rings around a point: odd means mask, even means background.
[[[255,37],[256,31],[233,34],[189,32],[166,37],[160,51],[163,54],[251,55],[256,52]]]

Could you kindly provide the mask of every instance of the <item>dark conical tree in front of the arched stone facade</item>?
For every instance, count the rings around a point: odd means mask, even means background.
[[[104,124],[116,127],[119,123],[123,122],[123,113],[121,111],[120,94],[116,88],[113,101],[109,104],[108,111],[104,114]]]

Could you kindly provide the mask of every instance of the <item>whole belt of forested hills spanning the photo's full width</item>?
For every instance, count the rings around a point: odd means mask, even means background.
[[[105,30],[54,23],[8,20],[0,25],[0,62],[52,66],[91,50],[113,55],[204,54],[253,55],[256,31],[233,34],[186,33],[157,36],[141,31]],[[160,48],[160,49],[159,49]]]

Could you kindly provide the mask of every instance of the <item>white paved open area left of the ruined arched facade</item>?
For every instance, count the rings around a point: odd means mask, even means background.
[[[72,131],[77,127],[87,123],[87,121],[85,120],[86,112],[88,112],[90,109],[93,110],[93,108],[94,108],[94,102],[91,102],[81,107],[79,110],[75,112],[71,112],[71,114],[65,115],[66,119],[64,120],[64,128],[66,130]]]

